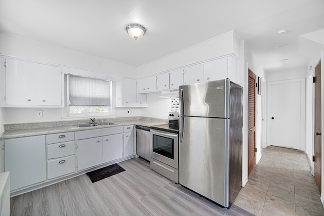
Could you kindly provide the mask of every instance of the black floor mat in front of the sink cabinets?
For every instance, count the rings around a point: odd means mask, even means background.
[[[122,171],[125,171],[125,169],[123,169],[121,166],[115,163],[110,166],[106,166],[91,172],[87,172],[87,175],[89,176],[91,182],[95,183],[109,176],[118,174],[119,172]]]

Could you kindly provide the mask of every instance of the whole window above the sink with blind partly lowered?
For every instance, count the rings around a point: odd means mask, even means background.
[[[69,115],[111,114],[111,81],[68,76]]]

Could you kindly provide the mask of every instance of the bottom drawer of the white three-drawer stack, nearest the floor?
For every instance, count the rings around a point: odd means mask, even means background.
[[[53,179],[75,171],[74,155],[49,160],[48,163],[48,179]]]

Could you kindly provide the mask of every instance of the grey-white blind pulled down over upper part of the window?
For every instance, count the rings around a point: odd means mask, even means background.
[[[110,81],[69,75],[69,106],[110,106]]]

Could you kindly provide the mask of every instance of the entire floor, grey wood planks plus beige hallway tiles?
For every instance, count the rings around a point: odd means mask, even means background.
[[[217,204],[171,182],[137,158],[91,183],[82,175],[11,198],[12,215],[324,215],[303,152],[268,147],[234,204]]]

